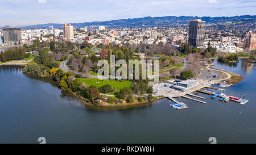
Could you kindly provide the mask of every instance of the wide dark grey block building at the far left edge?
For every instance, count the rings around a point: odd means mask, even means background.
[[[3,41],[5,43],[18,43],[19,41],[22,41],[21,29],[15,27],[3,28]]]

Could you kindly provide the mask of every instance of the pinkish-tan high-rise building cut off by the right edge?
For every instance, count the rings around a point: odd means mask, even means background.
[[[256,49],[256,34],[253,31],[246,33],[244,46],[244,52],[250,52]]]

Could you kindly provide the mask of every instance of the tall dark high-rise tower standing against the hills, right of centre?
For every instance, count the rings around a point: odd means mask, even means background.
[[[189,22],[188,43],[193,47],[202,47],[204,45],[205,21],[201,19]]]

